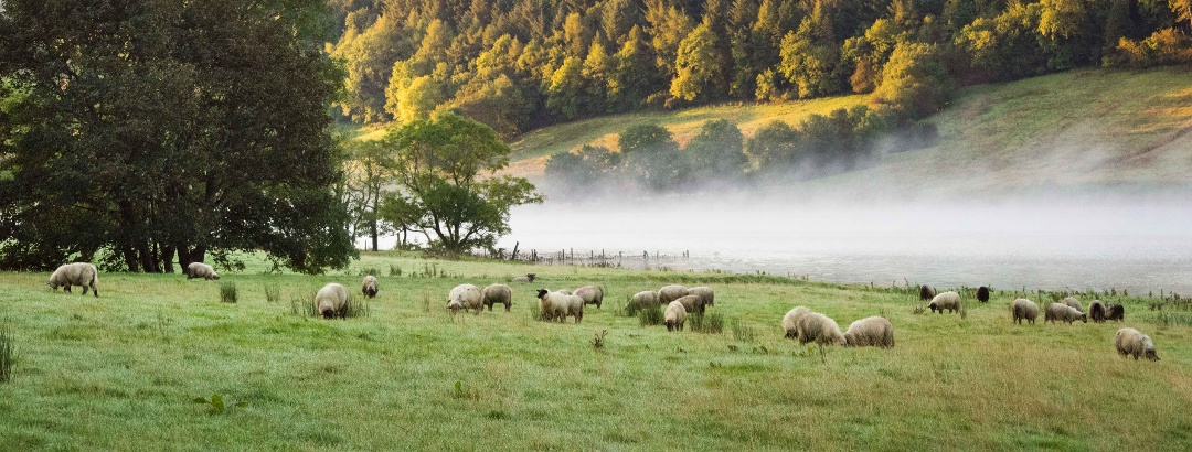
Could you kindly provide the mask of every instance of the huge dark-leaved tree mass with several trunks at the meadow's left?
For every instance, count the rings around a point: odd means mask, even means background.
[[[0,80],[23,98],[0,119],[2,265],[156,272],[261,250],[304,272],[346,266],[328,133],[343,74],[311,26],[324,8],[5,1]]]

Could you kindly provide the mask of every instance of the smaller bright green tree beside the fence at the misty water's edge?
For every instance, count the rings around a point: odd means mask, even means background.
[[[381,144],[393,155],[398,190],[385,197],[380,216],[416,225],[443,251],[491,249],[509,233],[511,207],[542,202],[524,178],[493,175],[509,164],[509,146],[455,113],[392,128]]]

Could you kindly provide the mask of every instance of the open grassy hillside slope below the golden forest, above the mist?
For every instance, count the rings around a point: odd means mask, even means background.
[[[514,143],[510,172],[540,180],[546,156],[583,144],[615,149],[616,134],[656,123],[682,144],[710,119],[731,119],[750,137],[762,124],[797,124],[813,113],[864,102],[862,96],[781,105],[716,106],[604,117],[538,130]],[[892,187],[913,193],[1181,188],[1192,169],[1192,73],[1074,70],[1012,83],[970,87],[931,117],[935,146],[886,155],[874,167],[806,183],[859,193]]]

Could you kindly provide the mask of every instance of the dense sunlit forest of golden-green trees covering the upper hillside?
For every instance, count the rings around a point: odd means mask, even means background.
[[[1192,62],[1192,0],[331,0],[340,111],[452,109],[507,139],[645,108],[870,94],[908,123],[956,88]]]

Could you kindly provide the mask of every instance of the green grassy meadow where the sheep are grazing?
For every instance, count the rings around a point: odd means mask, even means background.
[[[346,272],[221,281],[101,274],[100,297],[0,274],[15,377],[0,384],[7,450],[1187,450],[1192,313],[1124,299],[1125,322],[1013,325],[1012,293],[966,315],[887,282],[539,266],[365,253]],[[302,314],[315,290],[359,295],[367,315]],[[513,284],[513,310],[449,315],[447,291]],[[716,290],[722,333],[668,333],[617,314],[668,283]],[[532,319],[533,289],[606,288],[579,325]],[[912,284],[914,282],[911,282]],[[235,284],[237,302],[221,302]],[[1000,289],[1000,288],[995,288]],[[1008,288],[1005,288],[1008,289]],[[226,290],[226,289],[225,289]],[[273,293],[277,296],[271,296]],[[1049,299],[1050,294],[1042,297]],[[1041,295],[1029,295],[1039,300]],[[354,297],[360,301],[359,296]],[[1087,296],[1081,296],[1087,303]],[[296,305],[297,303],[297,305]],[[892,350],[800,346],[802,305],[842,328],[894,325]],[[1042,303],[1041,303],[1042,305]],[[1123,359],[1113,332],[1149,334],[1162,360]],[[601,347],[594,339],[603,334]],[[216,412],[193,400],[219,395]],[[243,407],[232,406],[244,402]]]

